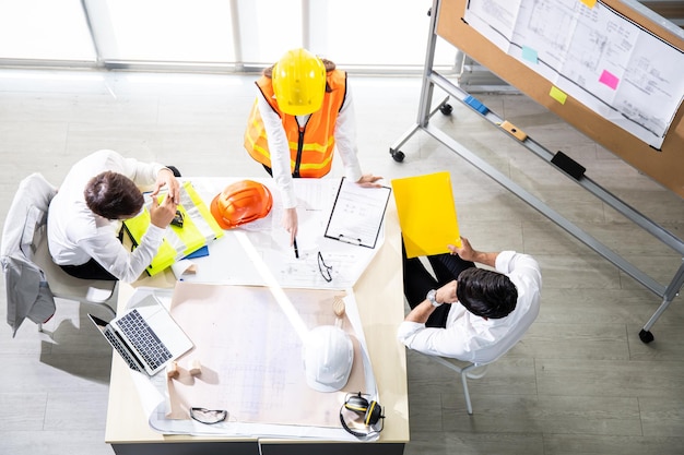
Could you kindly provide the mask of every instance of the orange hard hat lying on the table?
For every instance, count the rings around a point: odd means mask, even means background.
[[[269,189],[252,180],[227,185],[211,202],[211,214],[223,229],[263,218],[273,206]]]

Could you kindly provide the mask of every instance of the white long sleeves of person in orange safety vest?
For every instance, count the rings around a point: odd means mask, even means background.
[[[275,187],[283,197],[285,208],[293,208],[297,205],[297,197],[293,185],[292,170],[290,168],[290,145],[280,116],[271,108],[263,97],[261,91],[257,89],[259,113],[263,120],[263,128],[267,133],[269,152],[271,154],[271,170]],[[356,124],[355,124],[354,103],[349,83],[344,103],[338,115],[334,129],[334,140],[337,152],[342,157],[344,175],[351,181],[358,181],[362,177],[361,165],[358,164],[356,146]],[[305,124],[308,116],[297,116],[297,122]]]

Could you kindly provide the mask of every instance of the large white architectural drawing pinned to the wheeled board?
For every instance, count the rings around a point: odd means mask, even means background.
[[[463,19],[594,112],[662,145],[684,98],[682,49],[600,1],[471,0]]]

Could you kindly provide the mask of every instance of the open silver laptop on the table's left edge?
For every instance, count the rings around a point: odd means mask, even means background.
[[[193,347],[154,295],[146,296],[109,323],[92,314],[87,316],[132,370],[149,375],[156,374]]]

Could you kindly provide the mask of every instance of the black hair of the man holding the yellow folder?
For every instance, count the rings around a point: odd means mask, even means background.
[[[460,273],[456,297],[477,316],[500,319],[516,309],[518,289],[504,274],[472,267]]]

